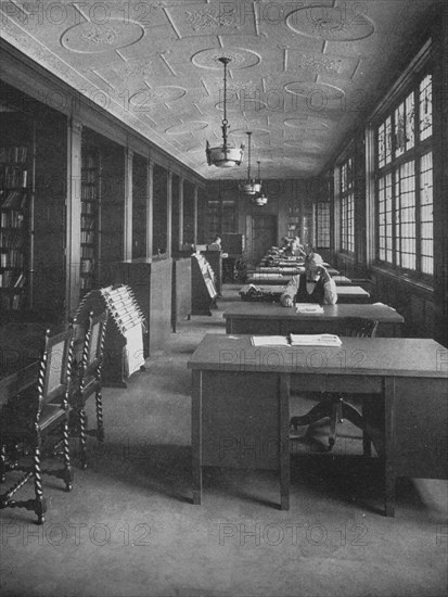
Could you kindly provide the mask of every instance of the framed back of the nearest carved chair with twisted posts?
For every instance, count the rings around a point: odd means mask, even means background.
[[[39,411],[48,403],[67,398],[72,374],[73,339],[72,326],[67,331],[51,338],[50,330],[46,332],[38,379]]]

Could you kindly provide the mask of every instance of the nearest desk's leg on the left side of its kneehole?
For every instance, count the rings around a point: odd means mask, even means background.
[[[280,376],[280,509],[290,509],[290,374]]]

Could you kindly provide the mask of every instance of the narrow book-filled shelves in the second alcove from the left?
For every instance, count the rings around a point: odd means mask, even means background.
[[[101,164],[97,148],[82,148],[80,298],[95,288],[100,246]]]

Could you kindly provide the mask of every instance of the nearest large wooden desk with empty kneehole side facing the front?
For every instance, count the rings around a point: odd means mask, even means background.
[[[188,367],[194,504],[202,499],[203,467],[255,468],[279,471],[280,507],[289,509],[292,373],[304,391],[373,395],[382,414],[386,516],[394,516],[397,477],[447,478],[448,354],[434,340],[254,347],[249,336],[208,334]]]

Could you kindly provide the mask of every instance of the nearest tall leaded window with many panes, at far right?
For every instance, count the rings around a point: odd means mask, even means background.
[[[376,127],[376,258],[433,275],[432,76],[420,77]]]

